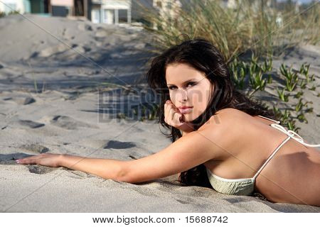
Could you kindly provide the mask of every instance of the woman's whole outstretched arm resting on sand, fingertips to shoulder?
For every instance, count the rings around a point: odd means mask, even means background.
[[[190,170],[213,158],[219,159],[224,152],[223,147],[228,146],[225,143],[231,141],[231,138],[234,140],[230,128],[228,129],[228,140],[222,139],[225,133],[221,132],[221,128],[223,128],[222,123],[215,126],[208,124],[203,130],[188,133],[158,153],[138,160],[121,161],[42,154],[27,157],[20,160],[19,163],[64,166],[119,182],[146,182]]]

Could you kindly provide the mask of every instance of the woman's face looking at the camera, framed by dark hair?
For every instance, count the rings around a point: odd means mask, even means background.
[[[212,86],[203,72],[184,63],[171,64],[166,67],[166,84],[184,121],[193,121],[206,110]]]

